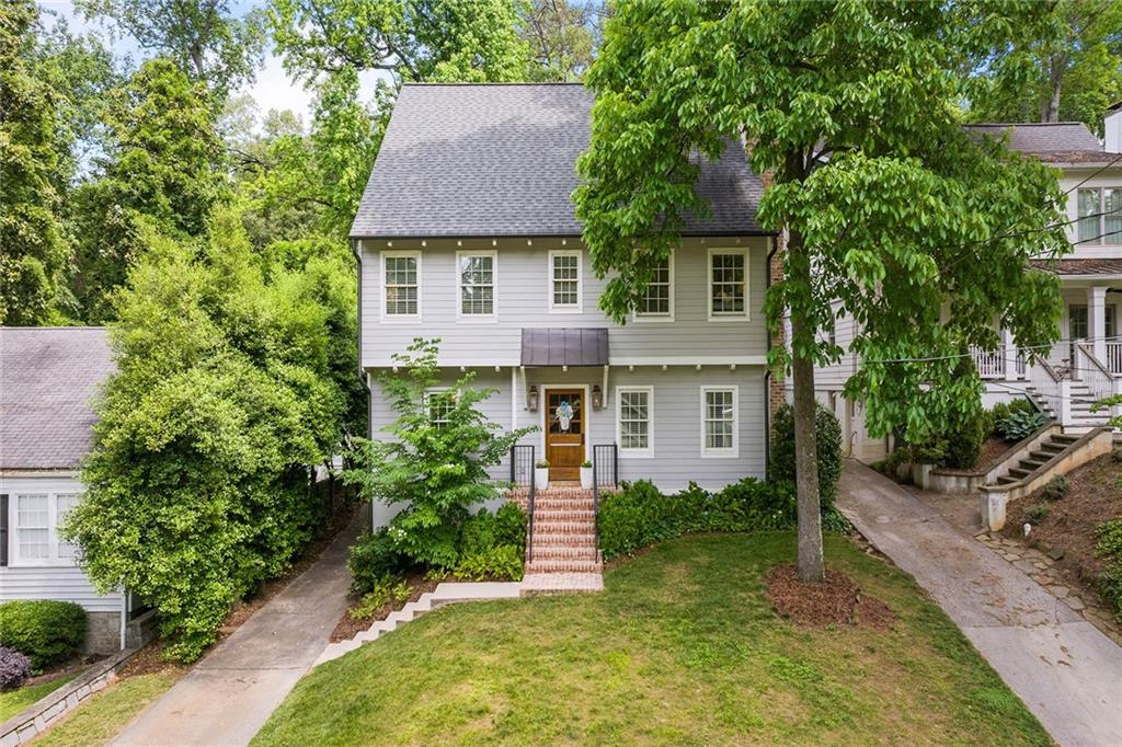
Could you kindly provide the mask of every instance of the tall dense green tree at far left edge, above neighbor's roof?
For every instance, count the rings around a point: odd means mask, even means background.
[[[40,324],[68,252],[57,218],[58,99],[35,65],[38,10],[0,6],[0,324]]]

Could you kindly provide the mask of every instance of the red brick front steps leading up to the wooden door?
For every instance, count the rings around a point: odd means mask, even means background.
[[[532,520],[522,581],[526,593],[604,588],[591,490],[550,488],[536,492]]]

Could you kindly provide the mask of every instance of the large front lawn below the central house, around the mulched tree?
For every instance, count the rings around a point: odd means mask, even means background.
[[[794,535],[695,536],[605,574],[603,594],[452,606],[318,667],[254,745],[1050,745],[916,584],[847,540],[827,560],[891,631],[808,631],[762,577]]]

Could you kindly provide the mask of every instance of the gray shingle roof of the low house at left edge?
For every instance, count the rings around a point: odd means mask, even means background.
[[[113,371],[103,328],[0,328],[0,469],[71,469]]]

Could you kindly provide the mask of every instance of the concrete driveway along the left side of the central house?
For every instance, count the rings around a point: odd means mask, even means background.
[[[347,609],[359,518],[112,745],[246,745],[323,651]]]

